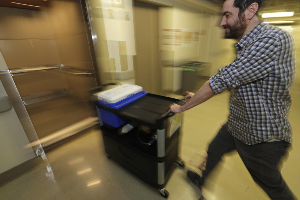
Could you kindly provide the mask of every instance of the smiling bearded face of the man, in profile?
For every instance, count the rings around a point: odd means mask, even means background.
[[[233,6],[234,0],[227,0],[223,4],[222,21],[220,26],[225,29],[225,38],[241,39],[246,30],[247,23],[244,13],[238,17],[239,8]]]

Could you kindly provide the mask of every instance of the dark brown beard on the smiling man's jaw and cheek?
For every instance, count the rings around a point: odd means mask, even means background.
[[[229,33],[226,33],[226,29],[229,28]],[[240,38],[247,28],[245,14],[237,19],[237,21],[232,26],[224,26],[225,38],[227,39],[238,39]]]

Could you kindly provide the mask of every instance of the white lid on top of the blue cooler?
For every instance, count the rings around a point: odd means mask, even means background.
[[[133,84],[124,84],[116,88],[104,91],[98,94],[99,100],[104,100],[108,103],[117,103],[126,99],[128,96],[139,93],[143,90],[141,86]]]

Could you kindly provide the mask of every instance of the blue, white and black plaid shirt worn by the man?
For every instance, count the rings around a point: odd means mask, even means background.
[[[213,93],[231,91],[228,129],[247,145],[292,143],[288,114],[296,74],[294,38],[263,22],[235,44],[237,58],[209,80]]]

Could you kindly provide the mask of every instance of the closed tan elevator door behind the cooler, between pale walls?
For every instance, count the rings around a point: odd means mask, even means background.
[[[135,84],[149,93],[160,93],[158,6],[134,2],[137,49]]]

